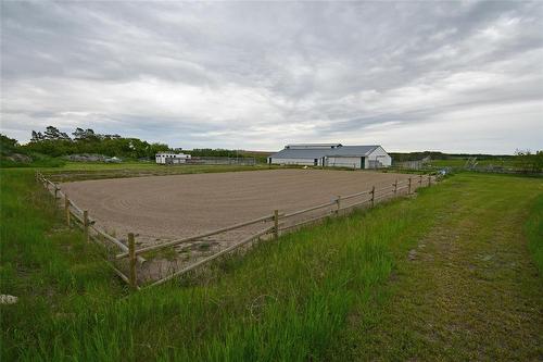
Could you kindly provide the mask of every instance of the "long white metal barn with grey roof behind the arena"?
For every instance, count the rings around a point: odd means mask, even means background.
[[[268,158],[269,164],[298,164],[351,168],[381,168],[392,164],[381,146],[343,146],[341,143],[288,145]]]

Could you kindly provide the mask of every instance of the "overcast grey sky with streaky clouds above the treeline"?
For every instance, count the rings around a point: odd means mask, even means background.
[[[8,2],[1,132],[543,149],[543,2]]]

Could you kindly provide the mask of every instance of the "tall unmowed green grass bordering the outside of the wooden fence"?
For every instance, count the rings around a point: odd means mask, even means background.
[[[0,290],[20,297],[16,304],[1,305],[2,360],[361,357],[358,349],[346,348],[352,340],[343,334],[361,332],[353,322],[384,315],[386,301],[397,292],[389,290],[391,274],[418,240],[458,210],[462,215],[475,210],[473,222],[485,230],[502,210],[513,217],[509,233],[521,233],[528,207],[542,209],[541,197],[535,199],[541,179],[457,175],[415,199],[330,220],[262,244],[244,258],[225,259],[215,264],[211,279],[189,278],[184,287],[171,284],[131,294],[94,248],[62,225],[30,172],[2,171],[1,176]],[[540,250],[541,215],[530,220],[527,235],[533,250]],[[517,241],[525,239],[518,236]],[[526,284],[532,285],[531,279]],[[383,340],[355,341],[378,351],[374,347],[382,347]],[[342,351],[330,350],[333,342]],[[392,357],[404,355],[402,346],[394,346]]]

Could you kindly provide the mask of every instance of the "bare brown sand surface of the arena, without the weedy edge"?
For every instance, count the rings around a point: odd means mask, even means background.
[[[269,170],[86,180],[62,189],[108,230],[162,240],[295,211],[386,187],[409,175],[352,171]]]

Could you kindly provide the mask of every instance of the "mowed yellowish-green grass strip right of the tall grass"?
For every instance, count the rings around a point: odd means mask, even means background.
[[[444,192],[454,209],[357,301],[330,360],[543,359],[542,179],[463,174]]]

